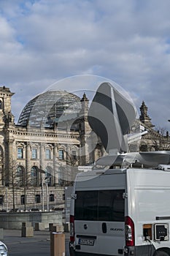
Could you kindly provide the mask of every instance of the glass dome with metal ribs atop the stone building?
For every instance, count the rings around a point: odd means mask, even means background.
[[[81,110],[80,97],[68,91],[45,91],[31,99],[18,119],[20,126],[53,127],[63,113],[74,114]]]

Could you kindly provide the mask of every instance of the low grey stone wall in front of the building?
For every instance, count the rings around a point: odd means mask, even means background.
[[[0,214],[0,228],[21,229],[22,222],[31,222],[33,227],[36,222],[42,222],[44,223],[45,228],[49,227],[49,223],[58,223],[58,225],[62,225],[63,212],[49,211]]]

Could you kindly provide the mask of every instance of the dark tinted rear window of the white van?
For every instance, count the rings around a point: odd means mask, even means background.
[[[76,191],[74,219],[124,222],[123,189]]]

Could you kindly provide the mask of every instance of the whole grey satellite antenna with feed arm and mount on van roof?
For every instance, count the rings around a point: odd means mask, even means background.
[[[101,138],[109,155],[99,158],[96,165],[111,166],[140,163],[149,167],[168,165],[170,151],[128,152],[128,142],[134,142],[147,131],[128,137],[136,118],[136,108],[110,83],[101,83],[88,111],[91,129]]]

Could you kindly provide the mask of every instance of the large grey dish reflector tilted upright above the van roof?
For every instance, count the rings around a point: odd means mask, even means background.
[[[109,154],[128,151],[127,134],[136,118],[134,104],[111,83],[101,83],[88,111],[91,129]]]

